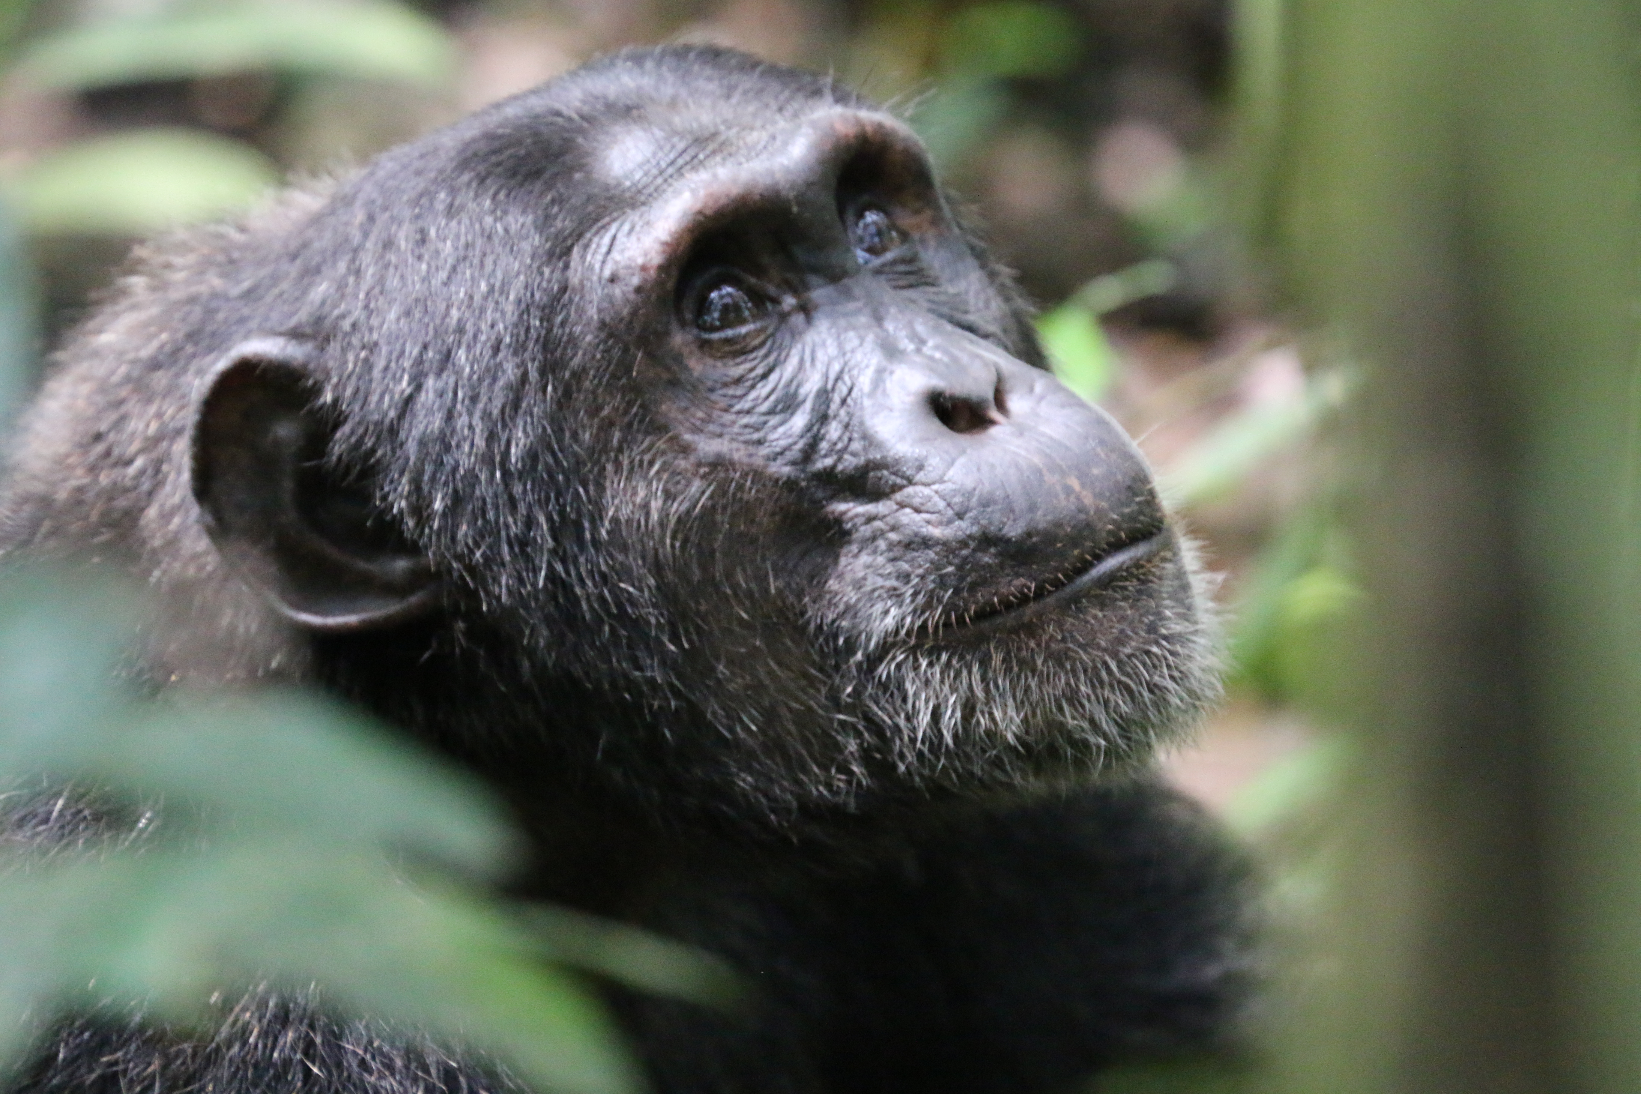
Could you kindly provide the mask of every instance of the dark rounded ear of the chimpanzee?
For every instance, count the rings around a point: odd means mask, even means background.
[[[376,504],[364,471],[327,461],[336,422],[317,402],[305,346],[240,344],[194,423],[194,497],[217,549],[290,622],[328,633],[433,610],[427,558]]]

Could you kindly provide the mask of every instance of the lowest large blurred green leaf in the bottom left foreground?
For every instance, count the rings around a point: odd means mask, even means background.
[[[379,856],[230,838],[205,853],[48,863],[5,882],[3,999],[141,1002],[205,1027],[218,991],[318,981],[351,1012],[496,1051],[546,1089],[638,1087],[602,1005],[537,961],[509,917],[455,887],[412,887]]]

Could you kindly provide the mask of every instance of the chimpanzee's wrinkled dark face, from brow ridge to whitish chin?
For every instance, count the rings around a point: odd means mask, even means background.
[[[629,533],[673,545],[647,572],[694,574],[655,615],[696,620],[684,677],[714,681],[712,720],[825,727],[827,786],[873,761],[965,784],[1144,751],[1216,686],[1188,548],[1132,441],[1044,367],[903,123],[712,113],[589,154],[647,202],[578,271],[619,287],[601,313],[633,331],[665,423],[671,458],[645,474],[742,499],[640,507]]]

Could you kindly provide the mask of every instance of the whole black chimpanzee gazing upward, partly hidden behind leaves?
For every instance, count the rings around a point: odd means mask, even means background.
[[[171,687],[309,681],[492,782],[528,897],[738,966],[617,997],[660,1091],[1072,1089],[1234,1042],[1247,869],[1147,771],[1216,697],[1191,551],[911,130],[619,52],[138,254],[59,354],[8,558],[158,590]],[[30,1092],[491,1091],[251,999]]]

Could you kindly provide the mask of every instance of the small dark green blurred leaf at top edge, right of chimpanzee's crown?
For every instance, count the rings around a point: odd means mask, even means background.
[[[1031,0],[963,8],[945,26],[942,67],[963,77],[1065,75],[1081,52],[1068,11]]]

